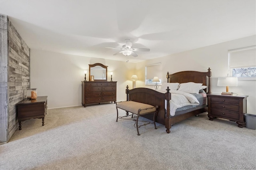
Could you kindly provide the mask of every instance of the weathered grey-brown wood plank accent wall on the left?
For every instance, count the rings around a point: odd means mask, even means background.
[[[1,71],[4,70],[8,73],[7,81],[8,81],[8,90],[7,90],[7,101],[8,103],[8,117],[7,119],[7,140],[2,141],[0,136],[0,143],[7,142],[14,132],[18,128],[18,117],[16,114],[16,104],[26,98],[26,89],[30,88],[30,48],[24,40],[20,37],[20,34],[14,28],[8,16],[0,14],[0,18],[4,18],[1,21],[6,22],[7,25],[7,39],[3,40],[4,43],[8,44],[7,46],[7,55],[6,53],[2,56],[1,61],[4,58],[4,61],[8,61],[8,67],[0,65]],[[2,40],[2,37],[1,37]],[[0,49],[2,47],[0,46]],[[0,50],[2,51],[2,50]],[[2,74],[1,74],[2,76]],[[1,81],[1,80],[0,80]],[[0,86],[1,87],[1,86]],[[1,91],[2,92],[2,91]],[[1,98],[1,105],[2,105]],[[2,110],[1,110],[2,111]],[[2,113],[0,113],[0,121],[1,121]],[[2,129],[2,127],[0,126]]]

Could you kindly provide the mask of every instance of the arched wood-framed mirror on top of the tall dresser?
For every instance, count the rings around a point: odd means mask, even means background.
[[[101,63],[89,64],[89,81],[108,81],[108,66]]]

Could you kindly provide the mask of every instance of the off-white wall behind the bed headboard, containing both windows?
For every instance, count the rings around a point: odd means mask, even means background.
[[[163,82],[167,81],[165,78],[167,71],[170,74],[186,70],[206,72],[208,67],[210,67],[212,71],[211,91],[212,93],[221,93],[226,91],[226,87],[218,87],[217,80],[218,77],[225,77],[228,73],[228,50],[251,45],[256,45],[256,36],[240,38],[136,63],[136,74],[141,78],[141,81],[137,81],[136,87],[154,88],[153,86],[145,86],[145,65],[161,62]],[[229,91],[239,95],[248,95],[247,113],[256,114],[256,81],[238,81],[238,87],[229,87]]]

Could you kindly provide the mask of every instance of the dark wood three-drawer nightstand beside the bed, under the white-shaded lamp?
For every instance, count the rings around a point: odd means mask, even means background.
[[[208,117],[212,121],[215,117],[236,121],[238,127],[243,127],[246,113],[246,95],[207,94]]]

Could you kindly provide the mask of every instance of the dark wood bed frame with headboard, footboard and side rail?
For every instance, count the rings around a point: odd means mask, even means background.
[[[188,83],[188,82],[203,83],[203,85],[208,86],[207,94],[210,94],[211,93],[210,77],[212,74],[210,70],[211,69],[209,68],[207,72],[181,71],[174,74],[167,73],[166,78],[168,83]],[[208,77],[208,83],[207,83],[207,77]],[[162,125],[165,125],[167,133],[170,133],[170,128],[174,123],[180,122],[194,115],[198,115],[200,113],[204,113],[208,111],[208,107],[204,107],[201,109],[190,111],[188,113],[184,113],[182,115],[170,117],[170,102],[169,102],[171,100],[171,93],[169,92],[170,89],[166,89],[167,91],[166,93],[160,93],[156,90],[143,88],[143,87],[135,88],[131,90],[128,88],[129,87],[127,85],[126,101],[136,101],[136,102],[145,103],[153,106],[156,106],[156,105],[158,106],[156,122]],[[206,89],[204,90],[206,91]],[[165,100],[167,101],[166,110],[165,110]],[[143,117],[153,120],[153,114],[143,115]]]

